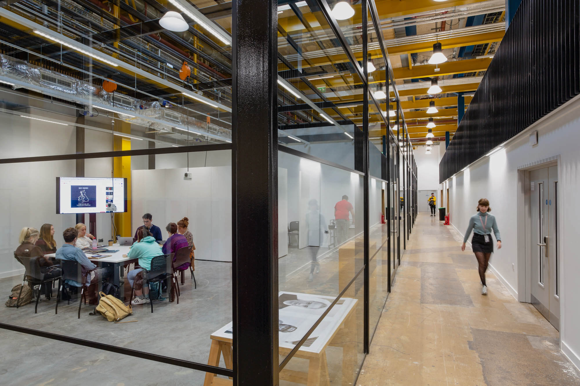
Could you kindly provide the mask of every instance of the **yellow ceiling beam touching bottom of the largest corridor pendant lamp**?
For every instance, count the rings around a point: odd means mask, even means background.
[[[415,65],[412,70],[408,68],[393,68],[395,79],[433,78],[443,75],[463,74],[465,72],[485,71],[490,66],[491,58],[465,59],[446,61],[439,64],[440,71],[435,71],[434,64]]]

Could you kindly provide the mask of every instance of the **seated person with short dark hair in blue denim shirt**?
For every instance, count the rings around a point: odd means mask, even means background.
[[[111,275],[110,268],[99,268],[86,257],[81,249],[75,247],[77,243],[78,231],[75,228],[66,228],[63,232],[64,244],[56,251],[56,258],[59,260],[75,260],[81,265],[82,276],[86,277],[85,285],[89,287],[86,293],[89,297],[89,304],[97,304],[96,283],[102,278]],[[66,283],[75,287],[81,287],[82,283],[67,279]],[[91,288],[92,287],[92,288]]]

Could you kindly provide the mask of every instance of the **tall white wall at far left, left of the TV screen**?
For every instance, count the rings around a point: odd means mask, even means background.
[[[36,113],[31,109],[31,113]],[[45,114],[45,116],[51,116]],[[63,119],[62,116],[55,116]],[[16,158],[75,152],[74,126],[34,121],[18,115],[2,114],[0,125],[2,158]],[[57,234],[74,225],[74,214],[56,214],[56,177],[74,176],[75,161],[3,163],[0,165],[0,278],[24,272],[14,260],[18,236],[23,227],[40,230],[42,224],[55,226]],[[62,245],[61,238],[55,237]]]

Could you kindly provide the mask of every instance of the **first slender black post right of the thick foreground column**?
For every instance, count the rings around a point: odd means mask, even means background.
[[[367,0],[362,0],[361,3],[361,19],[362,19],[362,72],[365,79],[368,77],[368,68],[367,68],[367,53],[368,53],[368,44],[367,44]],[[368,80],[368,79],[367,79]],[[364,326],[362,327],[364,334],[363,334],[363,345],[364,345],[364,353],[369,353],[369,267],[368,267],[368,259],[369,259],[369,219],[368,219],[368,164],[369,164],[369,148],[368,148],[368,81],[364,82],[363,91],[362,91],[362,132],[364,137],[364,187],[362,188],[362,200],[364,202],[364,216],[363,216],[363,226],[364,226]],[[388,96],[388,94],[387,94]]]

